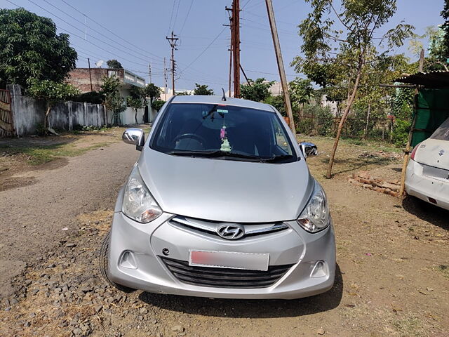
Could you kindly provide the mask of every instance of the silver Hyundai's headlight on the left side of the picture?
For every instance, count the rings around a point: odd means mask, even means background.
[[[161,207],[149,193],[140,176],[138,166],[134,166],[123,194],[123,214],[140,223],[149,223],[162,214]]]

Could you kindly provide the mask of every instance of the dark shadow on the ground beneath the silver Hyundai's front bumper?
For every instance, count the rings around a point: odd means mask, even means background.
[[[320,295],[296,300],[239,300],[163,295],[142,292],[140,300],[156,307],[194,315],[233,318],[300,317],[337,308],[342,300],[343,279],[335,270],[332,289]]]

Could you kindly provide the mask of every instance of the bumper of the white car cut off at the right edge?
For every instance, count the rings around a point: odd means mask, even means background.
[[[429,197],[435,199],[436,206],[449,210],[449,180],[431,178],[422,175],[423,166],[413,159],[408,161],[406,171],[406,192],[413,197],[429,201]]]

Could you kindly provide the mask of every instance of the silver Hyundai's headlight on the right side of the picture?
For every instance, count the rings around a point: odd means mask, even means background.
[[[315,183],[314,194],[309,200],[304,211],[302,211],[297,223],[307,232],[316,233],[329,225],[329,207],[326,194],[319,185]]]

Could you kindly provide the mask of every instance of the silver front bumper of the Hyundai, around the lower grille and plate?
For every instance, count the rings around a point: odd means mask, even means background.
[[[295,221],[281,232],[227,240],[210,234],[173,227],[163,213],[149,224],[136,223],[121,211],[114,213],[109,244],[109,277],[113,282],[152,293],[209,298],[301,298],[328,291],[335,279],[333,225],[310,234]],[[163,263],[168,258],[188,261],[194,250],[269,253],[269,265],[293,265],[277,282],[264,288],[225,288],[181,282]],[[317,263],[326,266],[321,277],[311,277]],[[213,269],[213,268],[211,268]],[[316,275],[314,275],[316,276]]]

